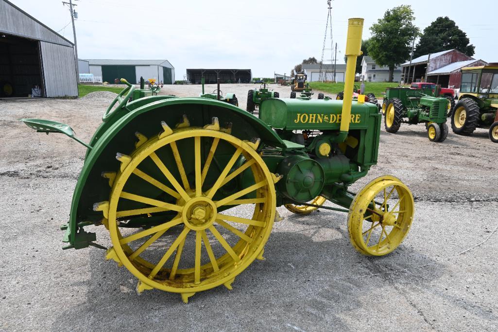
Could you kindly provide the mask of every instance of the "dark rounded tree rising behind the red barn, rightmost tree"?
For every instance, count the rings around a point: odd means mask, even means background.
[[[413,54],[417,57],[454,48],[473,56],[476,46],[470,44],[467,33],[462,31],[454,20],[448,16],[440,16],[424,29]]]

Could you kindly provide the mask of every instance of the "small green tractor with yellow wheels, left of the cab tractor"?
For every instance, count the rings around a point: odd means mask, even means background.
[[[439,85],[436,86],[436,96],[439,96],[439,88]],[[420,89],[387,88],[384,100],[387,105],[384,115],[386,132],[396,133],[401,123],[409,125],[424,123],[429,141],[446,140],[448,99],[445,97],[432,97]]]

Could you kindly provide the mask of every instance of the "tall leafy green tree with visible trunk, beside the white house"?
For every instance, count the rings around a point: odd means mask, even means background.
[[[389,67],[389,82],[392,82],[394,68],[410,55],[411,41],[418,32],[414,19],[411,6],[403,4],[387,10],[370,28],[369,55],[379,66]]]

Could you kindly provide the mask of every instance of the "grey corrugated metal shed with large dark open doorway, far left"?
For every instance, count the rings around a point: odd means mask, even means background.
[[[0,0],[0,97],[77,97],[74,45]]]

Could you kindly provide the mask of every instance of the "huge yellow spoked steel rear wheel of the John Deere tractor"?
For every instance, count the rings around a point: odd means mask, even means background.
[[[225,166],[213,161],[217,149],[225,155],[229,152]],[[165,158],[171,153],[174,159]],[[183,164],[187,155],[192,156],[192,163]],[[217,167],[210,169],[212,162]],[[113,248],[107,258],[123,264],[139,279],[137,292],[156,288],[182,293],[187,302],[195,292],[222,284],[231,289],[234,278],[262,254],[275,218],[272,175],[253,146],[220,131],[185,128],[146,141],[126,163],[111,191],[108,223]],[[253,184],[235,187],[240,190],[225,195],[223,188],[248,171]],[[204,183],[210,172],[216,175],[213,183]],[[160,177],[154,175],[158,173]],[[146,185],[162,190],[162,196],[147,197]],[[252,196],[245,198],[247,194]],[[130,202],[141,206],[120,208]],[[235,205],[247,207],[247,215],[233,215],[230,207]],[[126,217],[150,217],[156,212],[169,212],[173,217],[139,231],[122,227]]]

